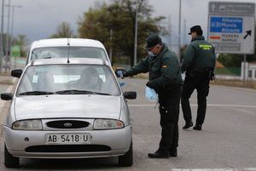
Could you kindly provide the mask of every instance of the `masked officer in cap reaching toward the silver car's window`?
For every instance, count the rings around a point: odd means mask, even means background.
[[[148,56],[132,66],[131,69],[123,71],[124,77],[136,75],[149,71],[149,81],[146,84],[154,88],[159,95],[159,111],[161,140],[159,148],[154,153],[148,153],[150,158],[177,157],[178,142],[178,115],[181,96],[181,70],[176,54],[172,53],[156,33],[146,38],[147,44],[144,48]]]

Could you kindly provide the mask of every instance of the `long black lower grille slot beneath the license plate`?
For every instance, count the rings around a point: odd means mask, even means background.
[[[110,151],[108,145],[35,145],[25,149],[26,152],[94,152]]]

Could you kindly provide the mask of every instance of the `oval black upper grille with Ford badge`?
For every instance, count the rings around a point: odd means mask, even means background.
[[[46,123],[49,128],[86,128],[90,123],[77,120],[59,120]]]

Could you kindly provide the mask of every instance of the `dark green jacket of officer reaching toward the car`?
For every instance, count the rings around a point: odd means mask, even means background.
[[[158,94],[170,92],[173,87],[182,84],[180,65],[177,56],[170,51],[166,45],[160,54],[154,57],[147,56],[136,66],[127,71],[126,76],[137,75],[149,71],[149,82]]]

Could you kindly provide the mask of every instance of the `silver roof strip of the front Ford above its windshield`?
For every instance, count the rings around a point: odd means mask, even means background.
[[[53,58],[53,59],[39,59],[32,60],[28,66],[42,66],[42,65],[58,65],[58,64],[89,64],[89,65],[106,65],[109,66],[108,61],[96,58]]]

